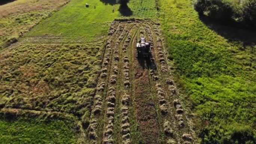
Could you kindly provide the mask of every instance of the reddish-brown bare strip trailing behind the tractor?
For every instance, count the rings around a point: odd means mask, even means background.
[[[143,27],[143,25],[141,25]],[[143,32],[140,31],[141,36]],[[134,39],[136,43],[136,39]],[[134,45],[135,46],[135,45]],[[137,123],[139,131],[142,134],[143,141],[146,144],[158,144],[158,120],[155,109],[155,101],[151,92],[151,85],[149,82],[149,73],[144,69],[141,59],[137,58],[137,51],[133,53],[134,58],[134,97],[135,107],[137,113]],[[143,59],[142,59],[143,60]]]

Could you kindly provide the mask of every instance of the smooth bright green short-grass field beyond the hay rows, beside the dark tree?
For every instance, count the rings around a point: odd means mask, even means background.
[[[26,37],[41,35],[60,35],[64,43],[90,42],[106,37],[111,22],[115,18],[125,17],[117,3],[90,1],[89,8],[84,0],[71,1],[63,9],[37,25]],[[96,8],[94,9],[94,6]],[[132,11],[129,17],[155,18],[155,1],[131,0],[128,4]],[[140,7],[140,9],[138,9]],[[114,9],[114,12],[112,10]]]

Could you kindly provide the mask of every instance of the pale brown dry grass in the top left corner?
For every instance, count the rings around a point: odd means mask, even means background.
[[[0,17],[42,9],[58,9],[69,0],[16,0],[0,6]]]

